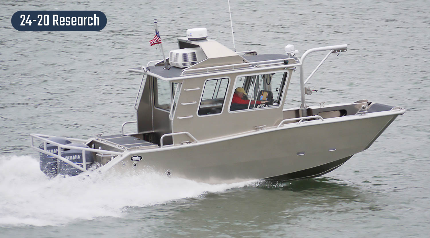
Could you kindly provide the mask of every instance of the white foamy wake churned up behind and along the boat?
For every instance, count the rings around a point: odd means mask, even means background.
[[[0,226],[58,226],[97,217],[122,217],[126,207],[204,196],[251,183],[204,184],[154,172],[49,180],[34,157],[0,156]]]

